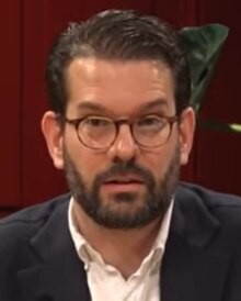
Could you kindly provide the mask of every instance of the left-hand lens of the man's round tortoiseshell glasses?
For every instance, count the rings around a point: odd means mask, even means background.
[[[115,138],[115,124],[112,120],[101,116],[89,116],[80,122],[78,135],[89,147],[108,147]]]

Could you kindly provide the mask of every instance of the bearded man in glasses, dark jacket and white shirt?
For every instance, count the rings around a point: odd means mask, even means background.
[[[42,129],[70,194],[0,223],[1,301],[240,301],[241,200],[179,183],[188,65],[160,20],[71,24],[48,60]]]

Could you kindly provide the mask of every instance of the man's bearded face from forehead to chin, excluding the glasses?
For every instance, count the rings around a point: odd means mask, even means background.
[[[160,62],[76,58],[66,81],[68,119],[175,115],[173,76]],[[134,228],[161,219],[173,197],[180,165],[186,161],[180,126],[173,124],[164,145],[145,148],[123,124],[115,142],[96,150],[81,144],[74,126],[66,123],[62,161],[76,201],[106,227]]]

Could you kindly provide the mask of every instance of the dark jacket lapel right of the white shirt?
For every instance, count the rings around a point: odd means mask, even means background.
[[[220,301],[229,256],[211,243],[220,225],[202,200],[177,193],[161,269],[162,301]]]

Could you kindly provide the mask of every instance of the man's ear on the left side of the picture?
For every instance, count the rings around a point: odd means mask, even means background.
[[[47,111],[42,119],[42,132],[44,134],[48,153],[56,168],[64,168],[62,159],[62,132],[61,125],[56,120],[56,113]]]

